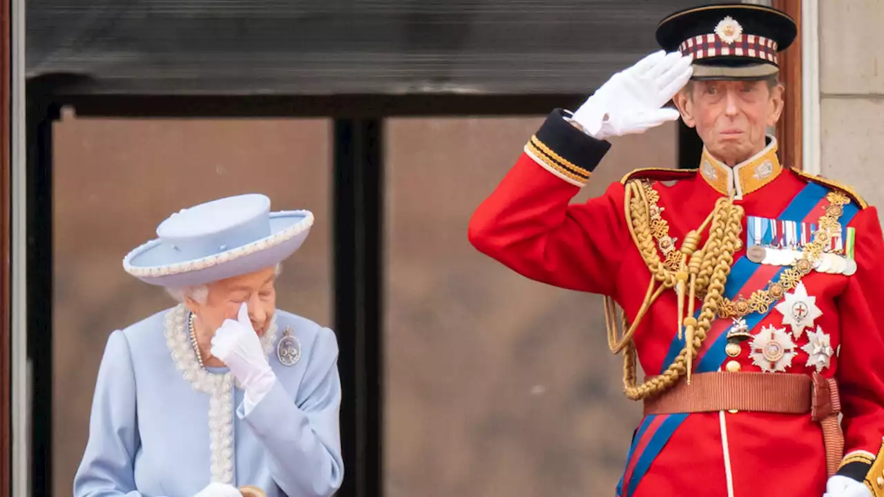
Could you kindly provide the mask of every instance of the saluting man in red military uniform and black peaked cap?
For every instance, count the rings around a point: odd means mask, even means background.
[[[759,5],[674,13],[664,51],[553,111],[471,219],[473,245],[512,270],[606,296],[625,393],[644,402],[623,497],[884,495],[884,240],[874,208],[784,168],[766,136],[795,36]],[[569,205],[606,138],[679,116],[704,141],[697,169],[639,169]]]

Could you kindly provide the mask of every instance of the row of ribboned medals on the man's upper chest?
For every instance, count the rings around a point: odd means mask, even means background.
[[[811,241],[817,226],[782,219],[746,218],[746,257],[753,263],[788,266],[801,258],[801,250]],[[829,274],[850,276],[857,271],[854,260],[854,228],[834,233],[829,244],[819,256],[814,270]]]

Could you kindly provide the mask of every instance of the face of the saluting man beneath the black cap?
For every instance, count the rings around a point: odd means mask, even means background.
[[[765,80],[698,80],[675,97],[684,124],[706,149],[733,166],[765,148],[767,126],[782,112],[782,85]]]

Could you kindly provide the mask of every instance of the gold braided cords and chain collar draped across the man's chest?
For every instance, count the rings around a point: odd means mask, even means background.
[[[720,198],[703,224],[685,236],[682,248],[674,250],[674,240],[668,236],[666,221],[660,217],[661,210],[657,205],[659,195],[649,182],[629,180],[624,202],[627,226],[636,248],[652,273],[652,278],[632,325],[629,325],[626,313],[621,310],[621,327],[626,330],[622,336],[616,323],[615,304],[610,297],[605,297],[608,346],[614,354],[621,351],[624,353],[623,384],[626,396],[637,401],[660,394],[674,386],[682,375],[687,376],[690,384],[693,359],[703,345],[716,314],[719,317],[743,317],[750,312],[764,312],[782,294],[796,287],[798,281],[812,271],[829,241],[830,233],[841,230],[837,219],[842,214],[842,205],[850,200],[841,192],[830,192],[827,199],[830,205],[826,214],[819,219],[819,229],[814,233],[813,241],[804,248],[802,258],[793,264],[794,267],[783,271],[779,282],[772,282],[765,290],[758,290],[748,301],[740,298],[732,302],[723,292],[731,265],[734,264],[734,254],[743,245],[740,238],[743,232],[743,207],[734,205],[730,198]],[[710,221],[712,225],[709,227],[709,237],[704,247],[697,250],[700,233],[703,233]],[[660,252],[666,255],[665,262],[660,261],[655,239]],[[686,264],[689,259],[690,264]],[[660,285],[655,290],[654,286],[658,281]],[[632,336],[652,303],[667,288],[674,288],[678,295],[677,329],[681,337],[683,327],[685,346],[666,371],[636,386],[636,348]],[[685,291],[688,292],[689,299],[686,313],[683,309]],[[702,298],[703,303],[699,318],[695,319],[694,302],[697,297]]]

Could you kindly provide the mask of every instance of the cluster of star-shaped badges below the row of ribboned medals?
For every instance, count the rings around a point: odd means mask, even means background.
[[[762,326],[758,333],[751,334],[743,318],[735,319],[734,325],[728,330],[725,352],[731,357],[740,356],[743,350],[741,342],[748,340],[752,364],[761,371],[782,372],[792,365],[792,360],[798,355],[795,340],[806,334],[808,342],[800,348],[807,353],[806,365],[817,372],[828,368],[834,348],[831,337],[822,328],[813,325],[822,316],[816,300],[815,296],[807,294],[804,283],[798,283],[795,291],[785,294],[783,302],[774,308],[782,314],[783,327]]]

